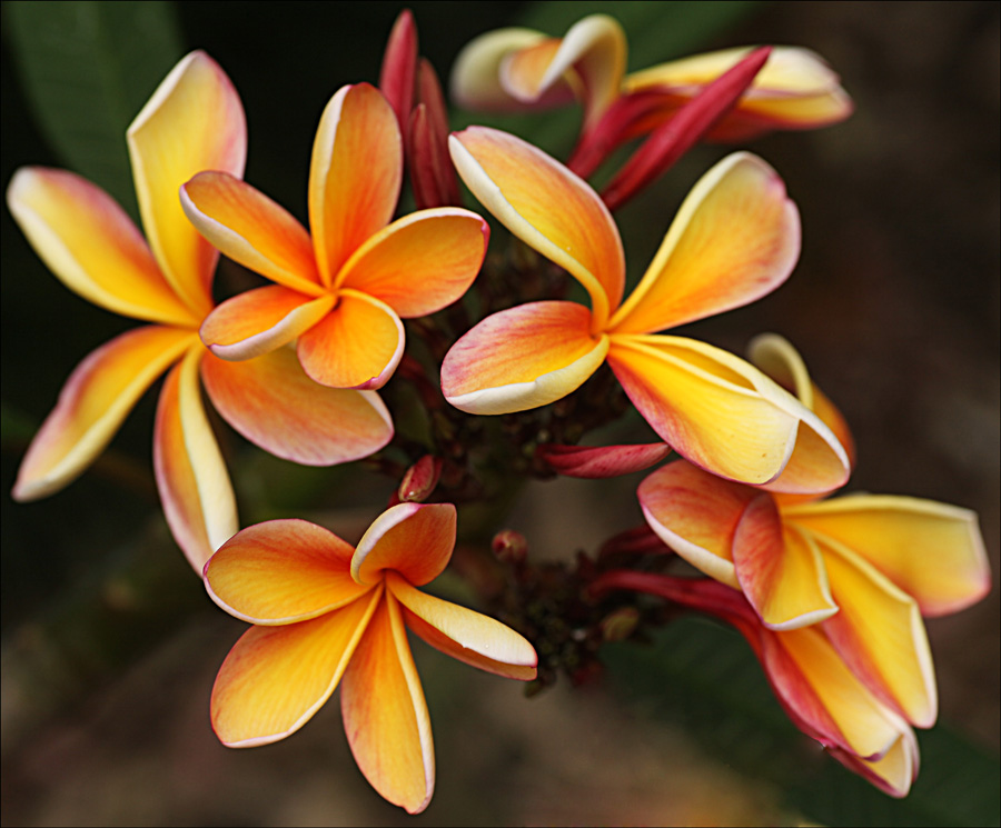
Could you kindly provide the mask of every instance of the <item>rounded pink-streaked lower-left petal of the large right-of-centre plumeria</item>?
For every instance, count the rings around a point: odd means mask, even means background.
[[[529,302],[494,313],[442,362],[442,391],[456,408],[496,415],[545,406],[579,388],[605,360],[608,338],[591,335],[574,302]]]

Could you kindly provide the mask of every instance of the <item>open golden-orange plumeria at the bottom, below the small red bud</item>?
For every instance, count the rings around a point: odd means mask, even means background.
[[[357,548],[304,520],[244,529],[205,568],[206,588],[251,627],[212,689],[211,719],[229,747],[298,730],[341,685],[355,760],[390,802],[417,814],[434,792],[430,719],[406,630],[474,667],[535,678],[532,645],[499,621],[422,592],[455,546],[450,503],[400,503]]]

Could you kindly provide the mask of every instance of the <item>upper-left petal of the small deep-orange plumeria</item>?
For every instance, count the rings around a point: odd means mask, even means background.
[[[200,172],[180,189],[185,215],[212,247],[290,290],[319,296],[313,242],[298,220],[225,172]]]

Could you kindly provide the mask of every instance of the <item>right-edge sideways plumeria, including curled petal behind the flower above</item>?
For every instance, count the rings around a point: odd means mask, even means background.
[[[777,337],[753,357],[844,433],[838,410]],[[843,437],[844,442],[850,442]],[[743,591],[766,629],[817,625],[839,657],[898,715],[938,712],[924,616],[955,612],[990,589],[975,513],[889,495],[789,496],[670,463],[640,486],[651,528],[678,555]]]

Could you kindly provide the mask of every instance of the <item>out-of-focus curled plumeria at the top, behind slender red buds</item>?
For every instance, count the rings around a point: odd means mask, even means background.
[[[578,100],[585,136],[617,106],[618,140],[625,140],[672,118],[751,48],[698,54],[632,74],[626,74],[626,51],[622,27],[604,14],[579,20],[562,38],[499,29],[460,52],[452,96],[459,106],[479,111],[545,109]],[[851,99],[823,59],[807,49],[776,47],[708,138],[742,141],[776,129],[813,129],[851,112]]]

